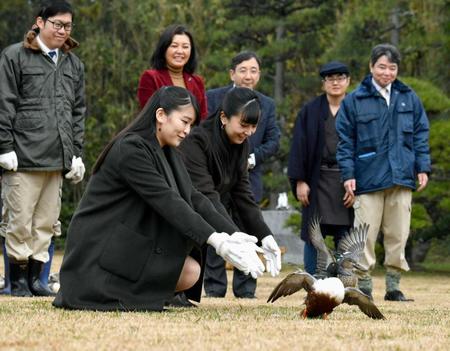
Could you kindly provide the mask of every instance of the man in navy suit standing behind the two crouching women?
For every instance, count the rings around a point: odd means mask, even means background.
[[[233,57],[230,67],[230,79],[233,84],[206,92],[208,115],[221,107],[223,97],[233,87],[246,87],[254,90],[261,77],[260,67],[261,60],[254,52],[244,51]],[[262,164],[278,151],[281,133],[275,120],[275,102],[268,96],[255,92],[261,105],[261,117],[256,132],[248,139],[250,146],[248,170],[252,193],[256,203],[259,203],[263,193]],[[234,214],[233,219],[241,226],[236,214]],[[241,230],[245,231],[245,228],[241,228]],[[208,296],[225,296],[227,281],[224,271],[223,260],[215,255],[212,250],[208,250],[204,280],[204,287]],[[233,293],[236,297],[253,298],[255,289],[256,280],[235,270]]]

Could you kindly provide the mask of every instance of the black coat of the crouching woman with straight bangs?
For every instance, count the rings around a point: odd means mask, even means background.
[[[259,240],[272,235],[264,222],[262,213],[256,204],[248,180],[247,145],[243,145],[245,156],[224,162],[215,152],[214,145],[221,142],[214,140],[212,130],[205,128],[211,120],[203,122],[195,128],[181,143],[179,150],[194,186],[205,194],[214,204],[217,211],[231,220],[230,209],[239,216],[241,230],[256,236]]]

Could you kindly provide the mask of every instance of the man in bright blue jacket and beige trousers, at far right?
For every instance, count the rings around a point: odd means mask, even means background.
[[[339,110],[337,161],[346,191],[356,193],[355,226],[370,225],[359,287],[371,295],[375,243],[383,233],[388,301],[408,301],[399,288],[408,271],[405,246],[412,190],[423,190],[431,170],[429,124],[414,91],[397,79],[400,53],[390,44],[372,49],[370,72]]]

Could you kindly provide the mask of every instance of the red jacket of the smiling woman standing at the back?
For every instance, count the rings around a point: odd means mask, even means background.
[[[206,106],[205,84],[203,82],[203,78],[196,74],[183,72],[183,79],[186,89],[189,90],[197,99],[200,106],[201,118],[205,119],[208,114],[208,108]],[[172,85],[172,78],[170,78],[170,74],[167,69],[148,69],[144,71],[139,79],[137,93],[141,109],[145,106],[148,99],[150,99],[156,90],[163,86]]]

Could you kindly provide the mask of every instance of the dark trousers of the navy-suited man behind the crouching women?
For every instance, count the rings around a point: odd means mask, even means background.
[[[225,261],[216,254],[215,249],[208,245],[206,253],[205,276],[203,280],[207,296],[224,297],[227,292],[227,272]],[[255,296],[256,279],[245,275],[234,268],[233,294],[236,297],[252,298]]]

